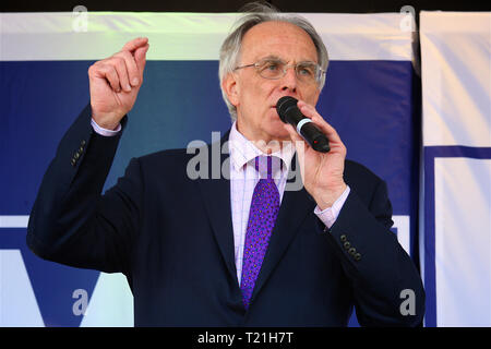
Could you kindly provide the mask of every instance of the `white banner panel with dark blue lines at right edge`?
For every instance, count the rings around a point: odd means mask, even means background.
[[[491,326],[491,13],[421,12],[427,326]]]

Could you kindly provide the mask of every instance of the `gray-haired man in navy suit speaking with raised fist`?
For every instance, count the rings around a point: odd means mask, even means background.
[[[148,47],[136,38],[89,68],[91,105],[45,174],[29,248],[123,273],[136,326],[346,326],[354,305],[362,325],[418,325],[424,292],[388,230],[386,185],[345,159],[338,134],[315,111],[327,52],[299,16],[260,7],[223,45],[221,91],[237,119],[220,141],[230,141],[230,180],[193,180],[185,149],[165,151],[132,159],[100,195]],[[279,120],[283,96],[299,99],[328,153]],[[296,160],[303,188],[287,191]],[[414,294],[409,314],[400,311],[403,290]]]

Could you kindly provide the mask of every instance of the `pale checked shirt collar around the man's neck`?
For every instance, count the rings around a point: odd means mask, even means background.
[[[230,159],[237,171],[243,169],[243,166],[253,160],[256,156],[266,155],[237,130],[237,121],[233,121],[228,141]],[[284,170],[288,171],[294,154],[295,146],[291,142],[287,142],[282,149],[271,155],[279,157],[283,160]]]

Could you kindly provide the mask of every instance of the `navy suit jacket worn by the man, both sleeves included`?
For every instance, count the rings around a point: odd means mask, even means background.
[[[93,132],[83,110],[43,179],[26,240],[43,258],[123,273],[136,326],[346,326],[354,305],[361,325],[421,322],[421,279],[388,230],[385,183],[363,166],[346,161],[351,191],[326,231],[304,189],[285,192],[246,311],[229,181],[190,179],[194,155],[172,149],[133,158],[101,195],[119,139]],[[414,315],[400,312],[404,289]]]

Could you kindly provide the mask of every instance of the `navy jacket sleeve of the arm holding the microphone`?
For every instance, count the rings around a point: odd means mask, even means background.
[[[392,205],[385,182],[378,179],[373,188],[368,202],[351,188],[328,240],[352,286],[360,325],[418,326],[424,314],[422,281],[390,230]]]

